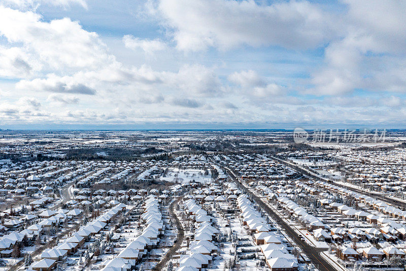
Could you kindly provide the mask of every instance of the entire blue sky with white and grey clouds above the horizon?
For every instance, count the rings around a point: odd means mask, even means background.
[[[1,0],[0,128],[405,128],[405,11]]]

